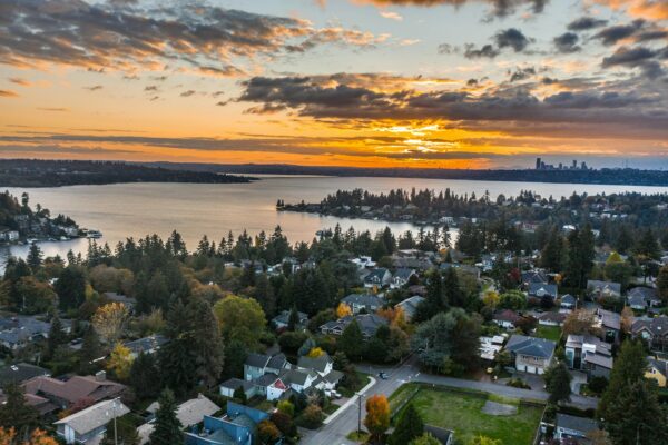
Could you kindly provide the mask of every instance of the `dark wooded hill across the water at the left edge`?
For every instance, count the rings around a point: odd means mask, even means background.
[[[249,182],[255,178],[138,164],[0,159],[0,187],[61,187],[119,182]]]

